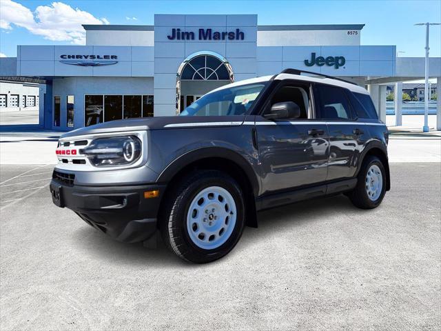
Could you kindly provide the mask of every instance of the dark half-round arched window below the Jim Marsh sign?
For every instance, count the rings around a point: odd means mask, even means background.
[[[230,81],[229,70],[223,61],[212,55],[199,55],[183,68],[181,79],[186,81]]]

